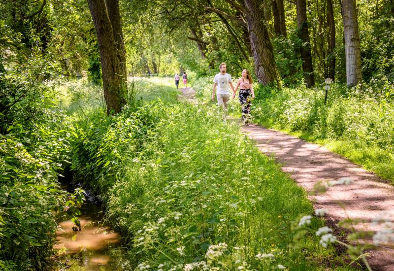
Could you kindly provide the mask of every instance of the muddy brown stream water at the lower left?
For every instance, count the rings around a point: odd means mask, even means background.
[[[56,232],[60,260],[72,271],[114,271],[119,266],[120,236],[102,222],[103,214],[99,206],[84,204],[79,217],[82,231],[73,232],[71,220],[59,223]],[[59,269],[61,270],[61,269]]]

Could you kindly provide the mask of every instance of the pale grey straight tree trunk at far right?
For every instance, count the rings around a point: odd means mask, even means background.
[[[356,0],[343,0],[343,29],[345,34],[346,83],[361,83],[361,52]]]

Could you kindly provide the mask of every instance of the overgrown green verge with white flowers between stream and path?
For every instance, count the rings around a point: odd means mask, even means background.
[[[310,234],[323,221],[297,224],[313,213],[305,192],[239,127],[224,124],[216,106],[177,102],[165,84],[150,88],[172,103],[145,102],[78,130],[73,149],[74,170],[101,194],[107,219],[131,244],[125,269],[341,265]]]

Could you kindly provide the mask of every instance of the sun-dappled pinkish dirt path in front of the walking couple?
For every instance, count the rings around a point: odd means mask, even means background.
[[[377,231],[372,219],[382,215],[394,219],[394,187],[347,159],[324,147],[300,138],[257,125],[242,128],[256,141],[259,149],[282,163],[282,170],[310,193],[315,209],[327,209],[326,218],[338,222],[351,218],[363,223],[357,230]],[[312,195],[318,181],[337,181],[342,177],[354,180],[350,185],[335,185],[322,195]],[[394,244],[372,250],[368,258],[374,270],[394,271]]]

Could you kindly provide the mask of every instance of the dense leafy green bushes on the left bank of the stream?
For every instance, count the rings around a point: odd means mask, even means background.
[[[69,162],[69,123],[53,108],[53,67],[32,58],[0,77],[0,268],[50,265],[59,215],[75,217],[82,191],[68,195],[58,176]],[[64,210],[67,206],[68,209]]]

